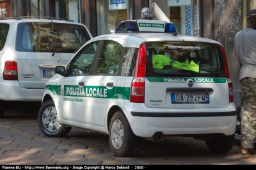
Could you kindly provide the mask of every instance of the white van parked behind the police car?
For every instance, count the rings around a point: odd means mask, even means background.
[[[52,17],[0,19],[0,30],[0,117],[14,101],[41,101],[55,66],[92,38],[83,24]]]

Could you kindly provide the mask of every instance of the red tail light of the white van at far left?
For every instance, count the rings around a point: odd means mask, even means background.
[[[16,61],[5,61],[3,79],[17,81],[18,80],[18,70]]]

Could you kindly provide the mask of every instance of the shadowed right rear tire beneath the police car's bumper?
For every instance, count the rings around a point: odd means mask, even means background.
[[[215,134],[212,141],[205,141],[209,150],[215,153],[227,153],[233,147],[234,135]]]

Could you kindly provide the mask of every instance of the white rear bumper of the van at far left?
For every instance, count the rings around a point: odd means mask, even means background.
[[[0,78],[0,100],[41,102],[44,89],[20,88],[18,81],[4,81]]]

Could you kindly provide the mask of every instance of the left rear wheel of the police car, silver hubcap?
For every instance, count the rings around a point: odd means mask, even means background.
[[[124,112],[116,112],[109,125],[109,144],[114,155],[130,157],[136,149],[137,141],[138,137],[132,132]]]

